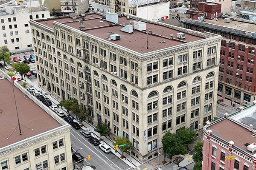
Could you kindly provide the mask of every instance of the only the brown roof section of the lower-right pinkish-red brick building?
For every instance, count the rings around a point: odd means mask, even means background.
[[[227,118],[224,118],[219,122],[209,125],[206,129],[211,129],[212,134],[226,140],[227,142],[233,140],[233,142],[235,142],[235,146],[241,148],[246,152],[249,151],[247,150],[247,146],[245,146],[244,144],[252,144],[256,141],[256,138],[251,136],[252,132],[250,132],[247,128]]]

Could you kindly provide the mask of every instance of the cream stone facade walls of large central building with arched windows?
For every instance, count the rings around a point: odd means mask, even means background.
[[[134,17],[134,19],[137,19],[137,17]],[[143,21],[143,19],[141,19]],[[151,23],[154,23],[151,21]],[[52,60],[49,59],[49,57],[43,57],[41,54],[38,54],[38,52],[35,52],[37,61],[36,64],[40,68],[38,71],[38,83],[43,84],[42,77],[45,79],[45,85],[42,87],[48,90],[48,82],[51,85],[52,84],[56,86],[56,88],[59,89],[60,94],[58,92],[51,91],[51,94],[54,95],[57,99],[61,100],[61,90],[65,92],[65,99],[67,99],[67,95],[71,96],[72,98],[75,98],[78,100],[79,103],[83,105],[87,105],[88,108],[92,108],[93,110],[93,117],[90,118],[90,120],[93,122],[93,125],[96,125],[98,123],[98,115],[101,116],[101,120],[105,122],[105,119],[107,120],[107,123],[109,122],[110,128],[111,128],[111,138],[115,138],[114,133],[114,126],[119,128],[119,136],[123,136],[123,132],[128,134],[129,139],[131,142],[133,142],[133,139],[135,141],[139,142],[139,151],[136,150],[136,147],[133,149],[133,152],[139,156],[139,159],[142,161],[148,160],[148,156],[153,156],[154,153],[157,153],[157,148],[161,147],[161,138],[163,134],[167,130],[171,130],[172,133],[175,133],[176,130],[178,130],[180,127],[190,127],[191,123],[194,123],[195,121],[198,121],[198,129],[202,129],[203,127],[199,124],[204,124],[204,118],[207,116],[215,117],[216,112],[216,100],[217,100],[217,81],[218,81],[218,61],[219,61],[219,54],[220,54],[220,40],[221,36],[215,36],[215,34],[209,34],[209,33],[200,33],[196,31],[190,31],[188,29],[178,28],[175,26],[169,26],[166,24],[162,24],[163,26],[174,28],[186,33],[194,34],[200,37],[205,37],[203,40],[198,40],[196,42],[189,42],[184,45],[180,45],[179,47],[172,47],[172,48],[166,48],[160,51],[151,52],[148,54],[139,54],[135,51],[124,49],[123,47],[113,44],[109,41],[99,39],[95,36],[86,34],[84,32],[81,32],[79,30],[73,29],[69,26],[64,26],[60,23],[53,22],[54,30],[50,28],[46,28],[45,26],[42,26],[41,24],[38,24],[36,22],[31,22],[32,29],[38,30],[39,33],[44,33],[45,37],[49,35],[50,38],[53,37],[54,44],[51,42],[47,42],[46,40],[42,40],[41,37],[36,37],[36,34],[33,36],[35,39],[40,40],[41,42],[47,43],[47,45],[51,45],[52,48],[55,48],[55,54],[53,54],[50,51],[47,51],[47,56],[52,55]],[[168,29],[168,28],[166,28]],[[58,36],[55,36],[56,31],[58,31]],[[65,39],[61,38],[61,34],[65,33]],[[73,37],[73,42],[68,41],[68,35]],[[76,38],[80,39],[81,45],[76,45]],[[37,41],[36,40],[36,41]],[[60,44],[62,46],[62,42],[66,43],[67,50],[63,49],[62,47],[56,46],[56,41],[60,41]],[[88,43],[88,49],[86,47],[83,47],[83,44]],[[35,48],[38,49],[41,47],[38,46],[37,43],[34,44]],[[69,52],[69,45],[73,47],[74,53]],[[92,45],[97,46],[97,53],[92,51]],[[216,46],[216,51],[212,55],[207,55],[207,48]],[[106,57],[100,56],[100,48],[106,50]],[[86,56],[84,54],[81,55],[81,57],[77,56],[76,49],[81,50],[83,53],[86,52],[89,54],[90,59],[89,62],[86,61]],[[43,50],[43,49],[42,49]],[[193,59],[193,51],[202,50],[203,55],[200,58]],[[58,55],[59,52],[59,55]],[[116,61],[113,61],[110,59],[110,52],[116,54]],[[183,63],[177,62],[177,56],[183,54],[188,54],[188,61]],[[64,55],[67,57],[67,59],[64,58]],[[93,63],[93,57],[98,58],[98,65],[96,63]],[[120,57],[124,57],[127,59],[127,65],[124,66],[120,64]],[[163,59],[168,59],[170,57],[173,57],[174,64],[163,68]],[[54,62],[56,59],[56,63]],[[212,66],[207,66],[207,59],[215,58],[215,64]],[[40,62],[40,60],[43,60],[43,62]],[[44,60],[48,62],[48,67],[46,67]],[[62,62],[62,66],[58,64],[58,60]],[[107,62],[107,69],[101,68],[101,60]],[[136,62],[138,64],[138,70],[134,70],[131,68],[131,61]],[[192,64],[195,62],[202,62],[202,69],[198,71],[192,71]],[[72,63],[74,62],[74,64]],[[153,72],[147,72],[147,64],[158,62],[158,69],[154,70]],[[68,70],[65,69],[65,64],[68,65]],[[79,67],[79,63],[81,63],[81,68]],[[50,70],[50,64],[53,65],[53,70]],[[111,72],[111,65],[116,66],[116,74]],[[181,66],[188,66],[187,74],[183,75],[177,75],[177,69]],[[72,73],[72,69],[75,68],[75,73]],[[41,71],[41,67],[44,68],[44,73]],[[55,67],[57,70],[55,70]],[[127,71],[127,79],[124,79],[121,77],[121,70],[123,69]],[[169,80],[163,81],[163,72],[169,71],[173,69],[173,78]],[[46,76],[46,70],[49,71],[49,77]],[[60,72],[63,71],[63,76],[61,76]],[[79,77],[79,71],[83,72],[83,77]],[[99,76],[96,76],[94,73],[95,71]],[[206,78],[207,75],[212,72],[213,77]],[[50,74],[54,74],[55,77],[58,77],[58,83],[51,79]],[[70,80],[68,80],[65,77],[65,73],[69,74]],[[135,84],[134,82],[131,82],[131,74],[134,74],[138,77],[138,84]],[[154,83],[153,85],[147,85],[147,77],[150,75],[158,74],[158,80],[157,83]],[[107,78],[107,81],[103,79],[103,75]],[[72,82],[71,76],[76,78],[76,84]],[[90,76],[91,79],[86,78],[86,76]],[[193,83],[192,80],[195,77],[201,77],[201,81]],[[39,77],[41,77],[41,82]],[[99,87],[97,87],[96,82],[99,81]],[[115,80],[117,86],[112,84],[112,80]],[[63,81],[63,85],[61,85],[61,81]],[[79,87],[79,81],[84,83],[84,89]],[[183,88],[177,88],[177,85],[182,82],[186,82],[186,86]],[[208,82],[213,81],[212,88],[205,89],[205,85]],[[108,85],[108,92],[104,90],[104,85]],[[125,85],[127,91],[124,91],[121,87],[122,85]],[[196,87],[198,85],[201,85],[200,93],[197,93],[195,95],[192,94],[192,87]],[[68,90],[68,86],[70,86],[70,91]],[[163,94],[164,88],[167,86],[172,87],[172,91]],[[77,91],[77,94],[74,93],[73,88],[75,88]],[[89,91],[86,92],[86,89],[89,88]],[[92,94],[90,94],[90,88],[92,91]],[[118,96],[115,97],[112,95],[112,89],[118,92]],[[135,97],[132,95],[132,91],[136,91],[138,94],[138,97]],[[177,100],[177,93],[181,91],[186,90],[186,97],[184,99]],[[100,93],[100,97],[96,96],[96,91]],[[157,96],[152,97],[148,99],[148,94],[151,91],[157,91]],[[204,101],[204,95],[205,93],[213,92],[212,99],[209,99],[207,101]],[[84,94],[82,98],[80,98],[80,93]],[[122,94],[127,97],[128,103],[122,100]],[[162,105],[163,97],[172,95],[172,103],[168,105]],[[92,102],[88,101],[88,96],[92,98]],[[104,96],[108,97],[109,103],[104,102]],[[200,103],[198,105],[195,105],[191,107],[191,99],[195,97],[200,96]],[[107,100],[107,99],[106,99]],[[119,110],[116,110],[113,108],[113,102],[118,103]],[[136,108],[133,108],[133,102],[135,101],[138,103],[139,109],[136,110]],[[147,111],[147,105],[149,102],[157,101],[157,108],[154,108],[151,111]],[[186,109],[176,113],[177,105],[186,102]],[[101,111],[97,109],[96,104],[101,104]],[[204,113],[204,106],[212,104],[212,111],[208,111]],[[122,113],[122,106],[128,109],[128,116]],[[108,113],[105,113],[104,107],[109,109],[109,115]],[[163,109],[172,107],[172,115],[166,116],[163,118]],[[199,115],[195,118],[190,117],[191,111],[199,108]],[[119,115],[119,122],[114,120],[113,113],[116,115]],[[133,113],[135,115],[138,115],[139,122],[136,122],[136,116],[135,120],[133,119]],[[147,117],[149,115],[153,115],[154,113],[157,114],[157,121],[148,124],[147,123]],[[178,124],[176,126],[176,117],[185,114],[185,122]],[[128,129],[127,127],[123,127],[123,119],[128,122]],[[152,118],[153,119],[153,118]],[[162,123],[166,122],[168,120],[172,120],[172,127],[162,131]],[[152,137],[147,138],[146,142],[143,142],[143,131],[148,130],[150,127],[154,127],[157,125],[157,134]],[[126,125],[125,125],[126,126]],[[138,136],[133,133],[133,126],[139,129]],[[136,130],[135,130],[136,131]],[[152,149],[152,151],[147,150],[147,144],[148,142],[151,142],[153,140],[157,139],[157,148]],[[153,146],[152,146],[153,148]]]

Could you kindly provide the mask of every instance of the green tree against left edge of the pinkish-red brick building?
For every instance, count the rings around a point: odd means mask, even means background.
[[[193,154],[192,158],[195,161],[195,166],[193,170],[201,170],[202,169],[202,161],[203,161],[203,142],[197,142],[194,146],[194,150],[196,153]]]

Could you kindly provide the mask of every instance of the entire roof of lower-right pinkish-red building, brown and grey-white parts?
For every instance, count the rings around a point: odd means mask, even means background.
[[[226,142],[232,140],[235,146],[249,153],[244,144],[252,144],[256,141],[256,138],[251,136],[253,132],[249,130],[249,125],[253,125],[253,130],[256,130],[256,105],[254,104],[242,111],[231,113],[229,117],[212,122],[206,126],[206,130],[211,129],[211,134],[219,137],[220,140],[224,139]]]

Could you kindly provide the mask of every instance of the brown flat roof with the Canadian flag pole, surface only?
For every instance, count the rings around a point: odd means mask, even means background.
[[[0,79],[0,148],[61,126],[16,86],[14,91],[22,135],[17,127],[12,83],[8,79]]]

